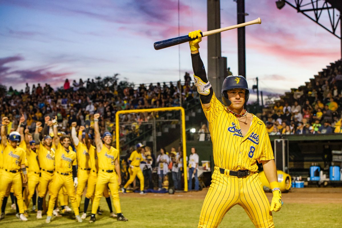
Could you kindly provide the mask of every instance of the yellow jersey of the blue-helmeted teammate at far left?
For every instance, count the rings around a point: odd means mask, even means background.
[[[13,148],[7,143],[3,150],[3,169],[19,170],[25,164],[25,151],[21,147]]]

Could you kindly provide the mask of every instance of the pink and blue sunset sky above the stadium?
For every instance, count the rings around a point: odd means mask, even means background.
[[[251,88],[283,93],[304,85],[341,58],[340,40],[275,0],[246,0],[246,73]],[[236,2],[221,0],[221,27],[236,24]],[[0,83],[23,89],[54,88],[70,80],[119,73],[138,83],[179,80],[178,46],[153,43],[178,36],[177,0],[0,0]],[[326,14],[322,19],[328,23]],[[339,26],[338,26],[339,27]],[[180,0],[180,31],[207,30],[207,1]],[[338,31],[339,34],[339,31]],[[221,33],[222,56],[237,73],[237,29]],[[207,66],[207,40],[200,43]],[[180,45],[180,71],[192,74],[188,44]]]

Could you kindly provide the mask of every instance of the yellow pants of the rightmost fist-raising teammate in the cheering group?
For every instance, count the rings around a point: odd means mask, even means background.
[[[118,184],[118,176],[115,172],[107,173],[105,171],[100,170],[97,175],[96,187],[95,187],[95,197],[91,207],[91,213],[96,214],[98,205],[100,204],[100,199],[108,184],[111,196],[113,197],[113,204],[115,207],[116,213],[121,213],[121,205],[119,198],[119,184]]]

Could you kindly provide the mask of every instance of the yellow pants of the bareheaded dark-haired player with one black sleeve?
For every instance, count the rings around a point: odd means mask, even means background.
[[[80,213],[79,213],[77,201],[76,201],[74,181],[73,181],[73,176],[71,175],[71,173],[67,176],[61,175],[59,173],[55,173],[53,177],[53,182],[51,184],[51,196],[49,200],[49,207],[48,207],[47,215],[52,216],[53,207],[55,205],[58,192],[61,190],[62,186],[64,186],[68,192],[75,215],[79,215]]]

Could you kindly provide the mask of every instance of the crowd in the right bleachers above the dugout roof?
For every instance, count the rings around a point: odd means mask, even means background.
[[[306,86],[292,89],[291,95],[262,113],[269,135],[342,133],[341,61],[319,72]]]

